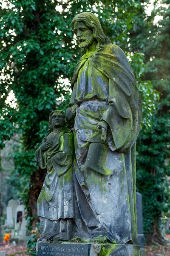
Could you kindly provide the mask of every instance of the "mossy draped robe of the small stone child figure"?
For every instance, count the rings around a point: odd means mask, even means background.
[[[42,152],[41,147],[36,151],[36,162],[40,168],[47,168],[37,200],[38,216],[51,221],[74,218],[73,134],[65,130],[57,134],[51,132],[42,144],[48,141],[53,141],[53,144],[47,151]]]

